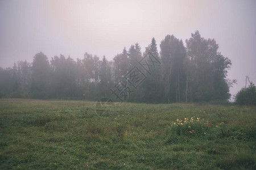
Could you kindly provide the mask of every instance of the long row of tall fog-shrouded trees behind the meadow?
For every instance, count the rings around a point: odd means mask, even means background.
[[[144,64],[139,65],[147,55],[151,60],[144,60]],[[121,82],[130,90],[122,96],[127,101],[225,102],[230,99],[229,87],[235,83],[227,78],[231,65],[230,59],[218,51],[216,41],[204,39],[199,31],[192,33],[185,45],[174,35],[167,35],[160,41],[159,52],[154,38],[144,52],[135,43],[129,49],[124,48],[111,61],[105,56],[100,59],[88,53],[76,61],[63,55],[48,60],[40,52],[35,54],[32,63],[18,61],[12,68],[0,67],[0,97],[84,97],[86,100],[110,97],[115,100],[117,97],[111,89],[120,87],[117,84]],[[147,77],[138,88],[133,88],[126,79],[135,67]],[[147,69],[153,70],[152,73]],[[137,80],[139,82],[139,78]]]

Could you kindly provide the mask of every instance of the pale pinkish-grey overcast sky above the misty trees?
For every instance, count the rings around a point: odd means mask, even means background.
[[[84,53],[110,60],[124,46],[144,48],[167,34],[185,39],[199,30],[215,39],[231,59],[230,92],[256,83],[256,1],[10,1],[0,0],[0,67],[32,62],[38,52],[50,60]],[[159,50],[159,48],[158,48]]]

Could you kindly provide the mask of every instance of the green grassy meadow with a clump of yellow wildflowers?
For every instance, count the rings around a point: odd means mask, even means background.
[[[0,169],[256,169],[256,107],[0,100]]]

